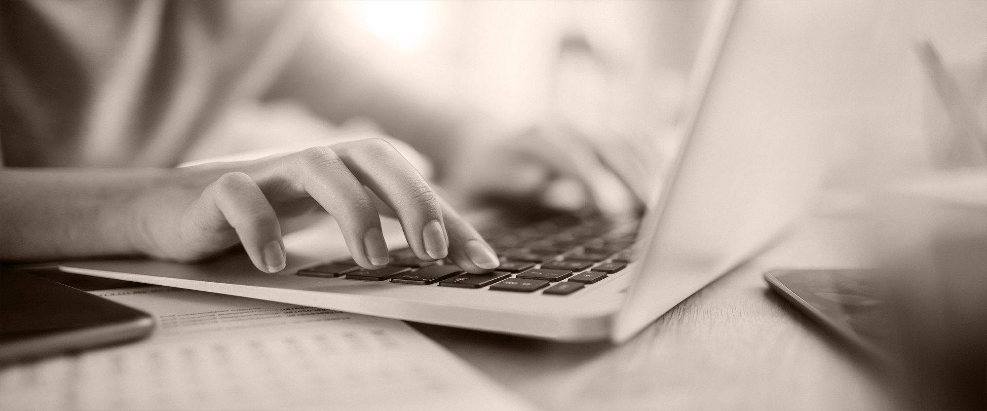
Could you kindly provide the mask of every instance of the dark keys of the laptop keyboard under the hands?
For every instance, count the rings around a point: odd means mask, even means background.
[[[631,262],[637,221],[611,223],[571,215],[533,224],[505,224],[483,232],[500,256],[488,274],[469,274],[448,260],[422,261],[408,248],[390,253],[391,263],[366,270],[352,260],[299,270],[299,276],[363,282],[540,292],[569,295],[621,273]]]

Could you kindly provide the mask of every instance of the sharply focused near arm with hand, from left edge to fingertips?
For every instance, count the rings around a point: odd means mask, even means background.
[[[284,268],[279,218],[322,207],[355,260],[388,263],[378,211],[401,221],[422,260],[495,268],[479,233],[382,139],[181,169],[0,169],[0,260],[136,254],[194,261],[243,244],[258,269]]]

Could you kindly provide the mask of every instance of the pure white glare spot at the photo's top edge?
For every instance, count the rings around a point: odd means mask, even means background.
[[[420,51],[435,29],[432,1],[364,0],[350,4],[364,30],[400,52]]]

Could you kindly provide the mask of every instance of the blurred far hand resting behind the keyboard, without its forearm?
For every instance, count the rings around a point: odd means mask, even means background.
[[[465,198],[535,199],[543,206],[595,208],[634,215],[658,176],[655,150],[630,138],[544,125],[524,132],[466,136],[464,153],[444,181]]]

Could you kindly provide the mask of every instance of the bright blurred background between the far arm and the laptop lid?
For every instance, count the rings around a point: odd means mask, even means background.
[[[402,81],[452,91],[500,122],[563,116],[595,127],[636,117],[662,126],[679,107],[708,9],[690,1],[341,1],[324,19],[339,29],[334,41],[389,63]]]

